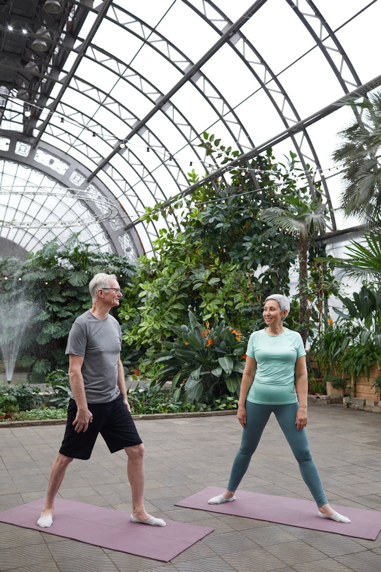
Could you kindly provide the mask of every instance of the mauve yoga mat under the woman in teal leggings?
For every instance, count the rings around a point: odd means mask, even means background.
[[[375,540],[381,530],[381,511],[354,509],[331,504],[340,514],[351,520],[343,524],[331,519],[319,518],[315,502],[286,496],[263,495],[258,492],[238,491],[236,500],[222,505],[208,505],[208,499],[224,492],[223,488],[207,487],[183,501],[175,503],[189,509],[207,510],[212,513],[234,514],[237,517],[255,518],[259,521],[299,526],[303,529],[343,534],[355,538]]]

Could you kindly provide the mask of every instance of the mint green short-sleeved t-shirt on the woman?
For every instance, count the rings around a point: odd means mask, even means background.
[[[270,336],[264,329],[253,332],[246,355],[256,361],[254,382],[247,394],[248,401],[266,405],[284,405],[298,401],[295,392],[296,358],[306,355],[299,332],[284,329]]]

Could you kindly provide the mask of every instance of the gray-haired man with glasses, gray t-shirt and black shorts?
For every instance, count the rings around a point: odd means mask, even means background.
[[[161,518],[146,512],[143,503],[144,445],[127,400],[120,358],[121,327],[109,314],[122,297],[117,277],[96,274],[89,290],[93,307],[75,320],[67,340],[72,395],[67,407],[65,436],[51,467],[45,506],[37,524],[43,528],[53,524],[54,499],[66,468],[73,459],[90,459],[95,440],[101,433],[111,453],[126,451],[133,504],[131,521],[165,526]]]

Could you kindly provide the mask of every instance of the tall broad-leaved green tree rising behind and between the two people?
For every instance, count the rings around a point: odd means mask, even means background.
[[[205,137],[201,145],[216,159],[236,156],[214,136]],[[276,164],[269,150],[232,170],[229,185],[223,180],[218,189],[203,185],[191,197],[146,209],[142,220],[176,215],[181,223],[162,229],[154,243],[156,259],[139,259],[119,307],[123,352],[137,347],[143,372],[142,356],[152,359],[173,336],[172,326],[186,323],[189,310],[201,321],[224,320],[249,332],[262,327],[266,296],[288,294],[297,241],[278,229],[266,235],[270,227],[259,212],[278,205],[279,188],[282,194],[295,192],[296,179],[289,172],[294,166],[292,154],[287,165]],[[197,178],[195,173],[190,177]],[[148,367],[153,377],[156,370]]]

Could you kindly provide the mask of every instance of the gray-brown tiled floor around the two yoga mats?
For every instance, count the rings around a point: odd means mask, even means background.
[[[157,517],[214,527],[170,563],[139,558],[0,523],[0,570],[14,572],[380,572],[381,534],[364,541],[271,522],[175,507],[206,486],[226,484],[240,442],[234,415],[137,420],[146,445],[146,507]],[[311,450],[331,502],[381,510],[381,415],[310,405]],[[0,510],[45,495],[63,426],[0,428]],[[75,460],[60,495],[131,509],[125,453],[98,439]],[[242,483],[244,490],[310,499],[273,416]]]

